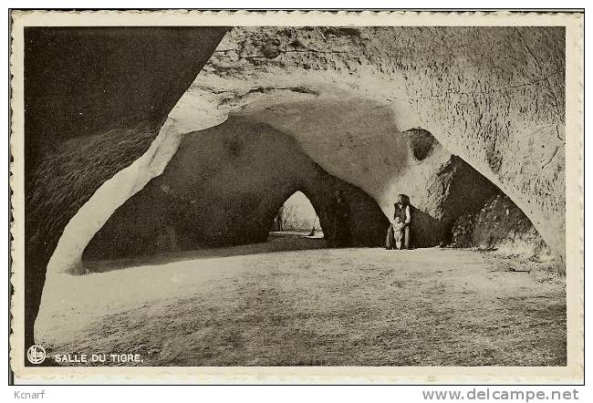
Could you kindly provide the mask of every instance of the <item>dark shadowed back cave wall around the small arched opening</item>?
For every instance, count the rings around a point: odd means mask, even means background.
[[[231,117],[185,135],[167,169],[113,214],[86,259],[264,242],[278,208],[303,191],[331,237],[335,192],[349,203],[353,245],[380,245],[389,222],[364,191],[269,126]]]

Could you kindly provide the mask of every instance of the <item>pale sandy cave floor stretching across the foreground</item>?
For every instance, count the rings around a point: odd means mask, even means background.
[[[566,365],[565,288],[544,263],[322,242],[55,275],[36,341],[50,356],[138,353],[144,366]]]

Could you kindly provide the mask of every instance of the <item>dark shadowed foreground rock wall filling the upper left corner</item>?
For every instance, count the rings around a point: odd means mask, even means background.
[[[149,148],[224,31],[26,28],[26,346],[64,227]]]

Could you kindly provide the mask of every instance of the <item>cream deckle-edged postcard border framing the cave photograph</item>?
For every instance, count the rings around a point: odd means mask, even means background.
[[[581,383],[584,371],[583,15],[411,11],[13,11],[10,164],[11,367],[42,383]],[[26,26],[567,26],[568,367],[24,367],[22,27]],[[568,74],[570,73],[570,74]],[[571,158],[572,157],[572,158]],[[577,205],[575,205],[577,204]],[[572,253],[572,254],[571,254]],[[16,354],[18,353],[18,354]]]

